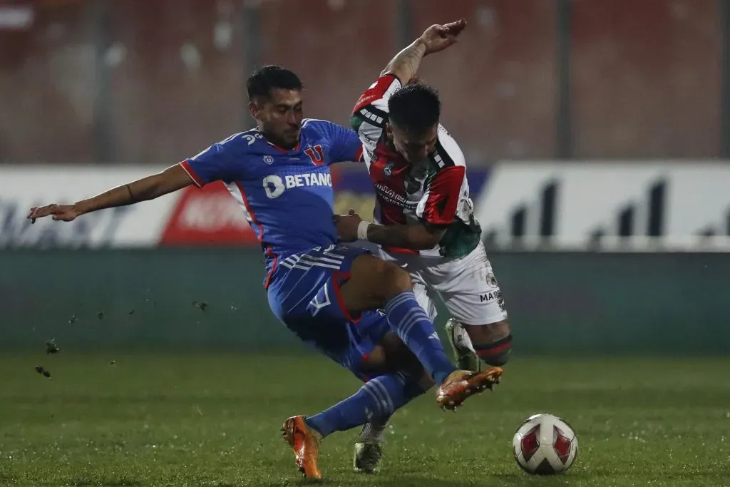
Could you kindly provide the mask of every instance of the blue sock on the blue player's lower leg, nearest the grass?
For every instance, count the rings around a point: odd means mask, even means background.
[[[366,382],[353,396],[304,421],[326,437],[361,426],[373,418],[388,418],[396,409],[425,391],[402,373],[381,375]]]

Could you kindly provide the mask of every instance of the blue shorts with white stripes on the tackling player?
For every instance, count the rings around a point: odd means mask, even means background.
[[[353,261],[366,253],[346,245],[296,253],[280,261],[268,288],[269,306],[288,329],[361,380],[369,379],[364,361],[390,331],[380,311],[351,317],[339,294]]]

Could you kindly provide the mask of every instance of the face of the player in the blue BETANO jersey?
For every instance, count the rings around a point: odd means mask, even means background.
[[[301,119],[301,91],[274,88],[271,96],[249,104],[251,115],[270,142],[285,149],[299,143]]]

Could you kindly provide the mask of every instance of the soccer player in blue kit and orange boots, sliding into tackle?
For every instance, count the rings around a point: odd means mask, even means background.
[[[448,39],[434,35],[424,42],[435,52]],[[265,66],[247,81],[256,129],[89,199],[33,207],[28,218],[34,222],[51,215],[72,221],[191,184],[223,181],[261,242],[264,287],[274,315],[301,340],[365,381],[356,394],[328,410],[284,423],[297,467],[307,478],[321,478],[318,451],[323,437],[389,417],[434,383],[439,385],[437,404],[454,409],[498,383],[502,369],[457,369],[418,305],[410,275],[368,250],[339,245],[329,165],[356,160],[361,142],[350,129],[305,119],[301,88],[293,72]]]

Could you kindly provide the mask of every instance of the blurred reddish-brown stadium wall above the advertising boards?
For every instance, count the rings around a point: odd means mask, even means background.
[[[293,69],[307,86],[307,115],[347,124],[358,96],[410,42],[399,39],[393,0],[1,3],[33,12],[25,28],[0,36],[0,115],[12,114],[0,118],[0,160],[23,164],[94,161],[100,134],[108,162],[193,156],[251,126],[242,86],[254,64]],[[410,4],[412,35],[441,19],[469,20],[458,48],[419,70],[439,89],[444,125],[469,164],[553,157],[556,2]],[[722,6],[572,2],[575,157],[718,156]]]

